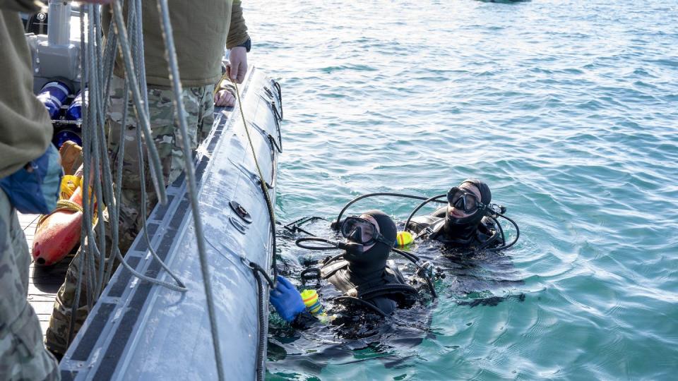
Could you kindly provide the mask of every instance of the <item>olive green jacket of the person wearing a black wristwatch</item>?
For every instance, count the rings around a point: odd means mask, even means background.
[[[240,0],[169,0],[169,19],[174,30],[174,45],[179,75],[186,87],[217,83],[221,78],[221,59],[230,49],[249,39],[242,17]],[[143,45],[146,83],[169,87],[165,42],[155,0],[142,4]],[[104,30],[112,20],[111,7],[104,10]],[[114,73],[124,77],[124,63],[118,57]]]

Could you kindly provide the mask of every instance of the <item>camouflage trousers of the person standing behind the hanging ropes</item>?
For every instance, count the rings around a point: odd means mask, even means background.
[[[115,173],[117,165],[122,161],[123,175],[121,186],[120,215],[118,219],[119,231],[119,249],[124,255],[130,248],[136,238],[136,235],[142,229],[143,221],[141,213],[148,216],[149,212],[157,203],[157,195],[153,188],[153,181],[150,178],[150,169],[148,161],[145,159],[145,144],[143,142],[143,156],[145,178],[141,179],[139,171],[140,156],[137,148],[137,129],[138,126],[133,111],[133,103],[127,104],[127,121],[122,126],[124,110],[124,80],[113,76],[111,83],[111,100],[107,116],[108,128],[108,151],[112,162],[112,171]],[[214,122],[214,85],[201,87],[184,87],[183,99],[186,108],[186,124],[189,128],[190,146],[196,150],[198,143],[209,135]],[[131,98],[130,98],[131,99]],[[182,136],[179,131],[179,123],[174,116],[174,106],[172,104],[172,90],[164,88],[148,89],[148,110],[150,116],[150,126],[153,132],[153,140],[162,165],[162,176],[165,186],[174,182],[184,171],[184,153],[182,151]],[[119,157],[118,147],[121,133],[124,135],[125,147],[123,157]],[[142,134],[143,135],[143,134]],[[141,181],[144,181],[146,190],[146,205],[141,205]],[[110,248],[112,239],[110,234],[109,213],[104,213],[99,219],[99,224],[105,224],[106,246]],[[97,227],[95,227],[96,231]],[[75,332],[85,322],[89,313],[88,300],[95,300],[98,296],[93,295],[95,286],[90,276],[83,276],[81,281],[80,300],[77,301],[75,318],[75,331],[73,337],[69,337],[71,325],[71,310],[73,303],[76,303],[76,289],[78,285],[78,275],[80,273],[81,259],[83,250],[87,247],[87,242],[81,245],[75,257],[66,272],[66,279],[61,285],[57,298],[54,301],[54,310],[49,320],[45,344],[47,349],[53,353],[64,354],[71,343]],[[107,249],[108,250],[108,249]],[[88,255],[84,255],[83,260],[87,260]],[[99,269],[99,260],[95,258],[93,263],[84,263],[83,270]],[[83,271],[83,274],[87,272]]]

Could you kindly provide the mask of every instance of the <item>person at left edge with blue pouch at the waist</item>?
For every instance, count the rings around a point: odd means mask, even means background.
[[[107,2],[107,1],[88,1]],[[26,301],[30,253],[17,210],[49,213],[57,205],[61,166],[52,123],[33,94],[30,50],[19,12],[40,2],[0,0],[0,380],[59,380]]]

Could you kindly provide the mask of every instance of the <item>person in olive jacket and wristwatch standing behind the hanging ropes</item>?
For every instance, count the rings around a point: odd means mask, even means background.
[[[150,126],[167,186],[177,180],[184,171],[184,152],[179,123],[174,116],[171,82],[165,59],[165,42],[162,39],[157,4],[155,1],[142,1],[141,5]],[[195,150],[213,126],[215,105],[213,92],[215,84],[222,77],[224,47],[230,49],[230,66],[227,68],[230,78],[237,83],[242,83],[247,70],[246,54],[251,47],[251,40],[247,34],[242,16],[242,4],[239,0],[169,0],[169,12],[183,85],[182,97],[188,114],[186,124],[191,136],[190,146]],[[111,10],[104,8],[102,15],[105,25],[103,30],[108,30],[107,25],[111,22],[112,16]],[[136,147],[126,147],[124,157],[117,157],[119,134],[124,133],[127,142],[136,142],[136,130],[140,127],[132,117],[127,119],[126,126],[121,126],[125,107],[123,104],[123,68],[124,65],[119,56],[111,81],[107,124],[112,166],[116,167],[120,160],[123,162],[123,181],[119,184],[122,193],[121,199],[118,200],[121,204],[118,223],[119,248],[121,253],[126,253],[138,232],[141,231],[141,213],[148,215],[150,210],[153,210],[157,195],[150,181],[148,164],[146,164],[146,178],[141,179],[138,171],[140,158]],[[226,102],[227,97],[220,97],[218,100]],[[131,105],[128,105],[128,115],[134,115]],[[145,181],[148,199],[145,206],[141,205],[141,181]],[[102,220],[108,224],[107,216],[100,219],[100,222]],[[109,226],[105,231],[109,234]],[[76,254],[76,258],[73,258],[66,273],[66,280],[59,289],[45,338],[47,348],[58,356],[63,356],[74,337],[74,335],[69,337],[73,303],[78,303],[76,332],[89,312],[88,294],[93,290],[85,286],[87,282],[82,282],[80,300],[74,300],[78,284],[79,255],[81,255],[81,250]]]

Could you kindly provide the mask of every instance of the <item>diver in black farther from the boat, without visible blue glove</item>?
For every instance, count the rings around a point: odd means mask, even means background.
[[[504,245],[493,212],[492,192],[486,183],[466,179],[447,193],[448,205],[410,220],[406,229],[454,248],[481,250]]]

